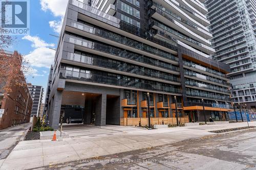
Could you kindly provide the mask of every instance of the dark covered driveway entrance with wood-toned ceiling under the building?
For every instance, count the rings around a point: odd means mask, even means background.
[[[117,95],[63,91],[61,115],[64,123],[120,125],[120,97]]]

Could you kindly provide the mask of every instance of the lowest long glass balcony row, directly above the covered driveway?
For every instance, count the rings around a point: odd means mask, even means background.
[[[148,84],[148,83],[137,81],[137,79],[133,81],[133,80],[127,80],[127,77],[121,77],[114,74],[112,74],[112,76],[116,76],[116,77],[89,74],[86,71],[78,72],[78,71],[71,71],[71,70],[65,70],[65,69],[60,69],[60,74],[59,74],[59,78],[61,79],[71,79],[71,80],[100,83],[100,84],[107,84],[107,85],[113,85],[113,86],[152,90],[152,91],[163,91],[163,92],[176,93],[176,94],[179,94],[181,92],[179,88],[174,87],[172,85],[168,85],[168,84],[157,83],[157,82]]]

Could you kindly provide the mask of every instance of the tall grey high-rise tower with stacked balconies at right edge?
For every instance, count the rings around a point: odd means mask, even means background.
[[[230,65],[232,100],[256,107],[256,2],[205,1],[215,59]]]

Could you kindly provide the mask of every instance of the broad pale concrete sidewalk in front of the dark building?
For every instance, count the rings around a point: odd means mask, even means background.
[[[256,122],[250,122],[256,126]],[[144,130],[136,127],[68,127],[63,141],[21,141],[0,169],[28,169],[90,157],[156,147],[190,138],[211,135],[208,131],[245,127],[247,123],[217,124]]]

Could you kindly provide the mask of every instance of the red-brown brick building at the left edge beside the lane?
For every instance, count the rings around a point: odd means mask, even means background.
[[[20,62],[21,57],[17,51],[6,52],[6,55],[15,57],[15,60]],[[24,77],[20,79],[25,82]],[[3,88],[4,80],[6,78],[0,77],[0,129],[28,123],[33,102],[27,84],[24,86],[17,85],[13,80],[8,85],[11,91],[7,93]]]

